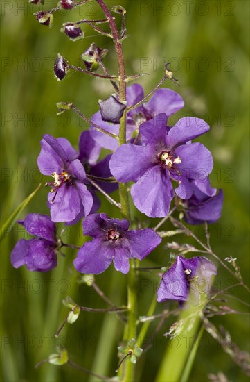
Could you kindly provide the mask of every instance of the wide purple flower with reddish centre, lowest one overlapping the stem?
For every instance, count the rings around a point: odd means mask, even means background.
[[[156,248],[161,238],[152,229],[128,231],[127,219],[110,219],[105,213],[89,215],[82,223],[84,235],[93,238],[78,251],[75,269],[81,273],[100,274],[113,262],[117,271],[126,274],[130,259],[145,256]]]

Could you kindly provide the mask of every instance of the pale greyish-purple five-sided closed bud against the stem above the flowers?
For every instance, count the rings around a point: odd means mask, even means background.
[[[102,120],[112,122],[113,124],[119,124],[120,118],[123,117],[123,112],[126,108],[126,105],[119,102],[113,95],[105,99],[105,101],[99,101],[99,106]]]

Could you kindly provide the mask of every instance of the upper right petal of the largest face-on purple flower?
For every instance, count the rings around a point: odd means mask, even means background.
[[[168,147],[174,147],[194,140],[209,130],[208,124],[200,118],[184,117],[179,119],[168,133]]]

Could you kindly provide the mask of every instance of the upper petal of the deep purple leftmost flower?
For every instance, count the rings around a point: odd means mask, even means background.
[[[30,235],[55,242],[56,227],[48,215],[30,213],[24,219],[24,228]]]

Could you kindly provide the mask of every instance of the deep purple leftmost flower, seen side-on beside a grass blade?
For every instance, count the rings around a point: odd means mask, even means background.
[[[55,223],[47,215],[30,213],[19,222],[35,238],[21,239],[11,253],[13,267],[26,265],[29,271],[47,272],[57,265],[57,251],[60,242],[55,237]]]

